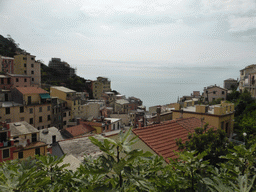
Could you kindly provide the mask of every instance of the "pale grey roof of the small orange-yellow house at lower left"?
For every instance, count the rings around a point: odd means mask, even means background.
[[[26,121],[9,123],[9,125],[10,125],[10,131],[11,131],[12,137],[39,132],[35,127],[30,125]]]

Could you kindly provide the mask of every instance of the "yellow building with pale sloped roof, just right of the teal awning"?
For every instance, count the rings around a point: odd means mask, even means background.
[[[71,110],[71,118],[80,116],[81,99],[76,91],[63,86],[53,86],[50,88],[50,95],[67,102],[67,107]]]

